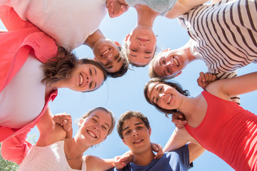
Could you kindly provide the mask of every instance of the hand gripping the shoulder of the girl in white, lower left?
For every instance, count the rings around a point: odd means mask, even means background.
[[[66,132],[72,130],[71,115],[69,115],[68,113],[58,113],[53,116],[53,120],[54,123],[59,123],[60,125],[62,125]]]

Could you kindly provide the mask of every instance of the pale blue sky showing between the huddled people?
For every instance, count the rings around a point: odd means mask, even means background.
[[[104,18],[101,23],[101,31],[111,40],[122,43],[127,33],[136,26],[136,10],[130,8],[122,16],[110,19],[109,16]],[[83,19],[83,17],[81,17]],[[0,25],[1,29],[4,26]],[[157,46],[158,51],[166,48],[179,48],[188,41],[188,34],[185,29],[179,26],[176,19],[166,19],[158,16],[153,26],[153,31],[158,35]],[[91,49],[87,46],[76,48],[76,55],[79,58],[93,58]],[[190,91],[191,96],[201,93],[202,89],[197,86],[196,79],[199,72],[207,71],[202,61],[193,61],[186,69],[183,70],[181,76],[175,78],[175,81],[181,83],[183,88]],[[238,75],[256,71],[256,64],[250,64],[238,70]],[[78,119],[86,111],[97,106],[102,106],[111,110],[116,119],[127,110],[139,110],[148,117],[152,128],[151,141],[161,144],[163,147],[173,132],[175,126],[156,108],[149,105],[143,97],[143,86],[149,80],[148,66],[145,68],[132,68],[121,78],[108,78],[101,88],[91,93],[78,93],[69,89],[60,89],[59,95],[54,102],[50,103],[53,113],[66,112],[72,115],[73,120]],[[243,108],[257,113],[256,97],[257,92],[241,95],[241,105]],[[78,130],[78,126],[74,124],[74,133]],[[38,132],[36,129],[31,134]],[[92,147],[85,152],[85,155],[96,155],[103,158],[111,158],[121,155],[129,150],[119,138],[116,128],[114,132],[100,145]],[[213,155],[211,152],[204,152],[201,157],[193,162],[194,167],[191,170],[233,170],[223,160]]]

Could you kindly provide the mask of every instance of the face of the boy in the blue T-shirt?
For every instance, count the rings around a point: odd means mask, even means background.
[[[133,154],[143,153],[146,150],[151,150],[151,129],[146,128],[140,118],[130,118],[125,120],[122,125],[123,142],[128,145]]]

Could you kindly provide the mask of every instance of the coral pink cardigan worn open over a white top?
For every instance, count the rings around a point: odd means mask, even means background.
[[[57,55],[58,47],[52,38],[36,28],[29,21],[22,21],[9,6],[0,6],[0,19],[9,29],[8,33],[0,33],[0,92],[11,81],[28,58],[34,52],[42,63]],[[6,160],[21,163],[31,144],[26,142],[26,135],[39,122],[50,100],[54,100],[57,90],[46,97],[44,109],[39,116],[19,129],[0,126],[1,155]]]

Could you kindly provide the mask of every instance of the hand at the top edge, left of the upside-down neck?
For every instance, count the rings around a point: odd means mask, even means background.
[[[107,1],[106,8],[108,9],[109,16],[114,18],[128,11],[129,6],[127,4],[122,4],[118,0],[109,0]]]

